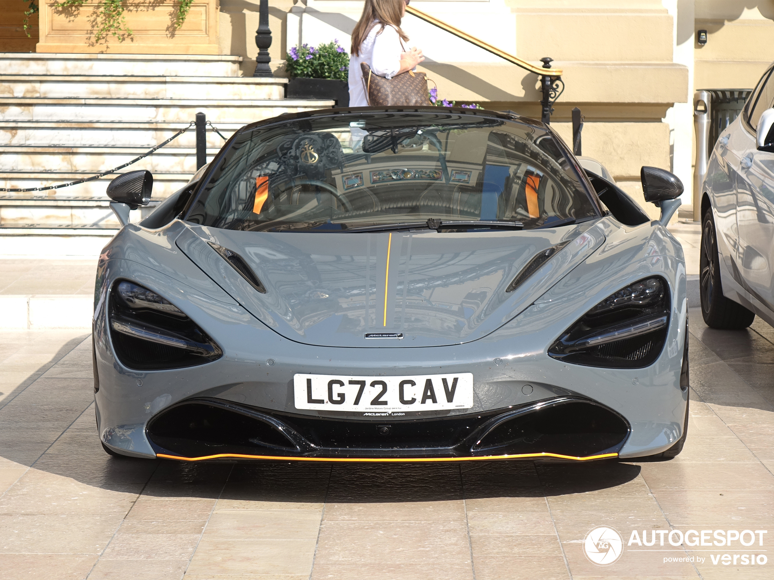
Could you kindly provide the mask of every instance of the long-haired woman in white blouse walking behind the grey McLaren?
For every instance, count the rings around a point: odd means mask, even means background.
[[[350,107],[368,107],[360,63],[366,63],[380,77],[391,79],[425,60],[420,49],[406,51],[403,46],[409,37],[400,29],[400,21],[408,4],[409,0],[365,0],[363,14],[352,31]]]

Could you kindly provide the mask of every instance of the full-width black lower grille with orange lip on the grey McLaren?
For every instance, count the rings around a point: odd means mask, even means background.
[[[472,415],[381,422],[310,417],[215,398],[181,401],[149,421],[157,457],[434,462],[616,457],[624,418],[581,397]]]

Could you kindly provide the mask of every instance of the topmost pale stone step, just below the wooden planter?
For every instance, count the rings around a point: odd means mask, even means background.
[[[241,56],[0,53],[3,74],[240,77]]]

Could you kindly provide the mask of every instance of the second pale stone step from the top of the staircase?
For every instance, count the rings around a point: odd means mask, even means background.
[[[287,82],[283,78],[15,75],[2,71],[0,97],[276,101],[285,97]]]

